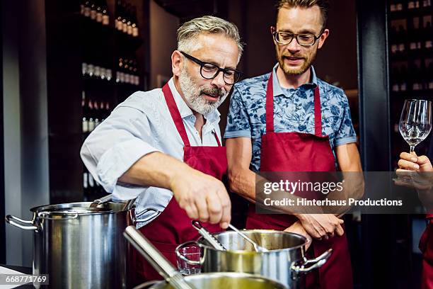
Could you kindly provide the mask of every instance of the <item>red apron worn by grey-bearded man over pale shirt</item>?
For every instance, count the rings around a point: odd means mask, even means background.
[[[226,147],[221,147],[221,143],[215,132],[214,135],[217,139],[218,147],[192,147],[168,84],[163,86],[162,90],[166,98],[168,110],[171,113],[171,117],[185,145],[183,148],[183,161],[192,168],[221,180],[222,176],[226,174],[227,171]],[[206,227],[209,232],[221,231],[218,224],[211,225],[203,223],[203,226]],[[174,197],[171,198],[170,203],[168,203],[165,210],[161,212],[161,215],[158,215],[158,217],[148,225],[140,228],[140,231],[176,268],[176,246],[200,237],[200,235],[197,234],[197,230],[192,227],[190,217],[187,216],[185,210],[180,208]],[[142,256],[138,256],[137,271],[137,273],[146,280],[162,279]]]

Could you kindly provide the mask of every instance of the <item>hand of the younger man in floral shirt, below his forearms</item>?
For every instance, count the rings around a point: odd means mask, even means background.
[[[314,239],[329,239],[345,233],[342,223],[345,222],[332,214],[297,214],[302,227]]]

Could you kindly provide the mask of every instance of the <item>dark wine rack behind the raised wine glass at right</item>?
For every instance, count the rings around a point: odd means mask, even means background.
[[[408,144],[398,123],[405,99],[433,101],[433,7],[431,0],[393,0],[388,4],[388,55],[393,168]],[[429,138],[417,145],[425,154]]]

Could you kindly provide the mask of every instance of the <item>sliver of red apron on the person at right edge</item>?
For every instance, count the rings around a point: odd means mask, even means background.
[[[420,239],[422,251],[422,289],[433,288],[433,214],[427,214],[427,228]]]

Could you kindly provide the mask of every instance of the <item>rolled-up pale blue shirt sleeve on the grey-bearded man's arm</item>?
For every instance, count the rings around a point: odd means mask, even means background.
[[[118,106],[87,137],[81,147],[81,159],[105,191],[120,200],[136,198],[146,187],[117,180],[146,154],[159,151],[154,145],[155,138],[144,111]]]

